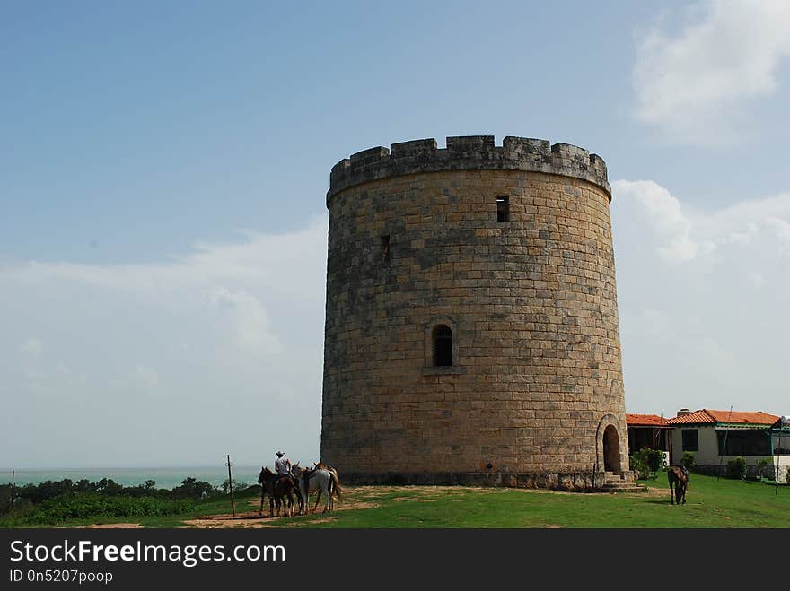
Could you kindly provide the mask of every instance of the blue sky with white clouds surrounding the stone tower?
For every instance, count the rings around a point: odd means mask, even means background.
[[[329,169],[447,135],[607,162],[629,412],[788,412],[788,25],[770,1],[2,4],[0,467],[317,460]]]

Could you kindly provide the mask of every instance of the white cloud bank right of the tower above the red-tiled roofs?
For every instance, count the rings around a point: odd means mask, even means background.
[[[780,412],[790,194],[702,210],[652,181],[612,191],[629,412]]]

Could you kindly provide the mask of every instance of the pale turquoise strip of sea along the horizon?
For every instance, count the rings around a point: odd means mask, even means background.
[[[233,481],[239,484],[256,484],[260,472],[259,465],[231,465]],[[64,468],[51,470],[15,470],[13,482],[16,486],[39,484],[40,482],[59,481],[69,478],[74,482],[83,478],[99,482],[109,478],[124,486],[145,484],[146,480],[156,481],[156,488],[171,489],[189,477],[221,486],[228,479],[227,465],[182,466],[167,468]],[[11,470],[0,470],[0,484],[10,484]]]

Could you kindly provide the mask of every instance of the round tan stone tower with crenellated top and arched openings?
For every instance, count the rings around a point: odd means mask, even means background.
[[[339,161],[321,459],[358,483],[584,490],[627,471],[610,199],[601,158],[566,143]]]

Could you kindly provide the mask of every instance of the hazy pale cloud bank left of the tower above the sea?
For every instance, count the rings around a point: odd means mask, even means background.
[[[321,216],[150,265],[0,267],[0,351],[24,356],[0,355],[14,462],[261,465],[285,445],[318,460],[327,230]]]

